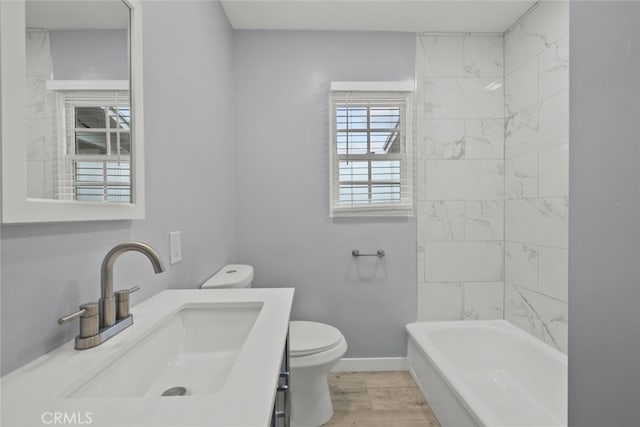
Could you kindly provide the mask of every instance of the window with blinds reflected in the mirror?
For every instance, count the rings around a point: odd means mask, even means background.
[[[131,202],[131,110],[124,91],[59,92],[59,199]]]

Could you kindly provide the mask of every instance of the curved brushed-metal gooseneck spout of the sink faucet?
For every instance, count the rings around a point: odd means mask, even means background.
[[[158,274],[164,271],[164,265],[160,256],[151,246],[143,242],[127,242],[114,246],[105,255],[100,270],[100,327],[112,326],[116,323],[116,306],[113,294],[113,265],[116,259],[125,252],[140,252],[144,254],[151,265],[153,271]]]

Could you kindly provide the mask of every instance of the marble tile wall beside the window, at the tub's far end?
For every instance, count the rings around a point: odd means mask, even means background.
[[[502,36],[417,38],[418,320],[501,319]]]

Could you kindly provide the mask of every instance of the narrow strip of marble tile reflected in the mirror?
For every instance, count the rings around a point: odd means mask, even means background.
[[[55,98],[46,90],[52,72],[49,32],[27,29],[27,194],[33,198],[51,199],[54,194]]]

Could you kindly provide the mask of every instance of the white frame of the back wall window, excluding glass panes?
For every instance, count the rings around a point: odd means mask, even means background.
[[[329,125],[330,125],[330,148],[329,148],[329,214],[331,217],[396,217],[396,216],[413,216],[414,215],[414,93],[415,84],[413,81],[401,82],[332,82],[329,96]],[[353,96],[354,103],[372,102],[384,100],[391,106],[400,107],[400,127],[399,141],[400,151],[397,153],[386,154],[339,154],[338,153],[338,126],[337,126],[337,109],[341,105],[348,104],[348,99]],[[369,116],[369,108],[374,105],[367,105],[367,115]],[[402,112],[404,114],[402,114]],[[403,120],[404,119],[404,120]],[[367,122],[367,147],[370,148],[371,143],[371,125]],[[376,184],[384,185],[383,181],[372,179],[371,162],[372,161],[400,161],[400,178],[390,184],[398,182],[400,187],[400,197],[398,201],[393,202],[376,202],[371,197],[369,190],[368,200],[366,202],[346,203],[340,201],[339,187],[341,183],[346,181],[340,178],[340,162],[346,158],[349,161],[366,161],[368,162],[367,180],[349,181],[348,185],[356,186],[366,185],[372,188]]]

